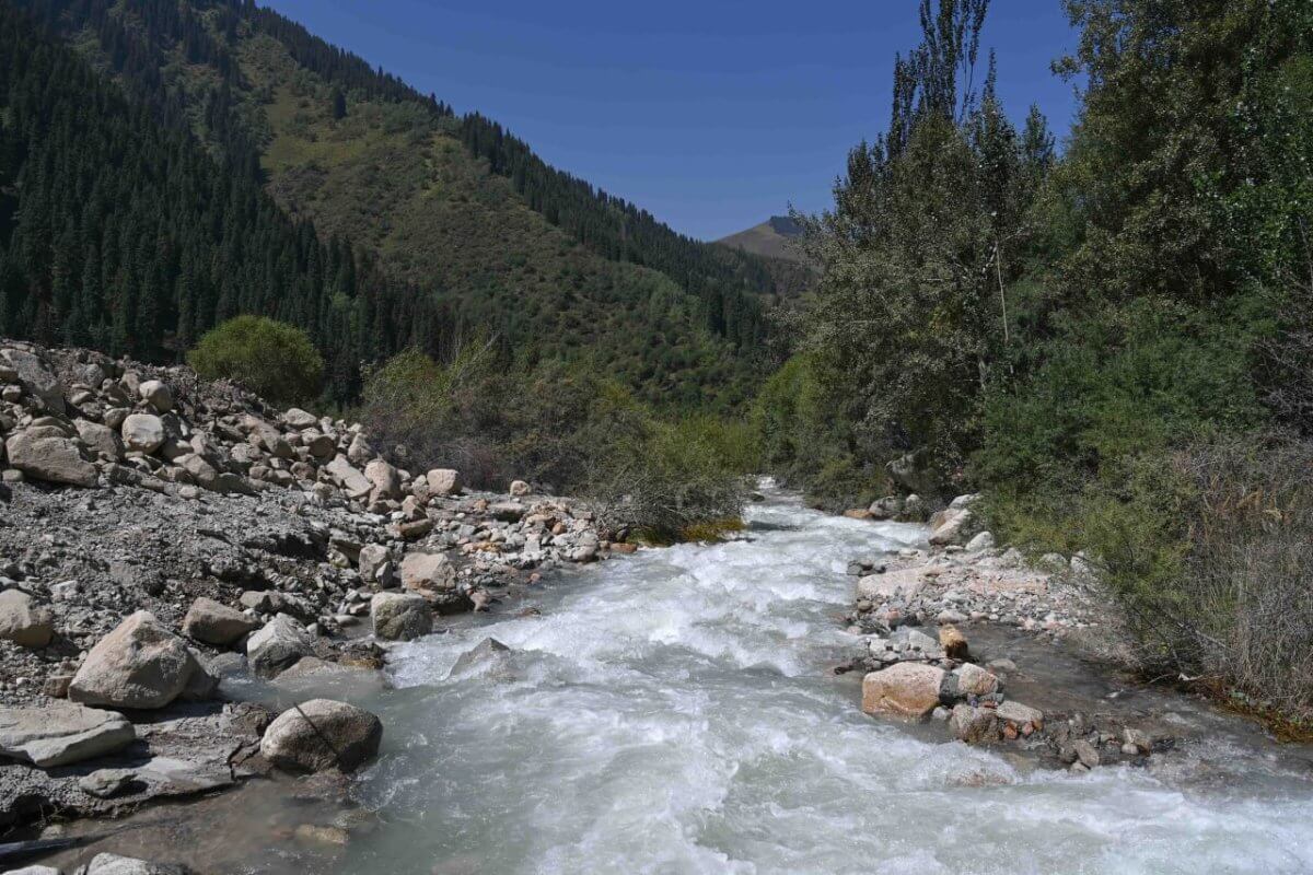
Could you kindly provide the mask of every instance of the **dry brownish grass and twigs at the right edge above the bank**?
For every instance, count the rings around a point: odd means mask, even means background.
[[[1179,579],[1132,601],[1149,651],[1232,707],[1313,716],[1313,443],[1270,436],[1176,458],[1194,487]],[[1268,720],[1271,722],[1271,720]]]

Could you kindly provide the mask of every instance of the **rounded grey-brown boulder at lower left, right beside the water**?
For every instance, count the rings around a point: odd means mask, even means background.
[[[288,771],[353,771],[378,753],[382,722],[353,704],[310,699],[280,714],[260,740],[260,753]]]

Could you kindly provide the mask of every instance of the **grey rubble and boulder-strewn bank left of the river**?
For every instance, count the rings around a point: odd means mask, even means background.
[[[230,690],[377,673],[394,641],[632,550],[528,483],[471,492],[358,425],[88,350],[0,341],[0,829],[351,773],[374,715]]]

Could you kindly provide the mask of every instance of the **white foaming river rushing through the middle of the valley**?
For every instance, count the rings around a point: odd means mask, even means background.
[[[344,872],[1308,872],[1313,791],[1031,770],[861,714],[850,559],[915,543],[772,496],[403,645]],[[512,652],[452,672],[484,638]],[[1220,748],[1217,757],[1229,756]]]

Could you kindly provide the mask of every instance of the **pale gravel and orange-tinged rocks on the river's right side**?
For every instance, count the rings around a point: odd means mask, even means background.
[[[881,499],[864,518],[909,518],[910,499]],[[1001,623],[1062,638],[1107,623],[1108,607],[1091,592],[1083,556],[1046,555],[1028,563],[1016,550],[999,550],[981,531],[972,505],[958,496],[928,519],[928,550],[848,564],[856,577],[850,631],[863,652],[839,672],[863,670],[863,710],[898,718],[934,718],[968,744],[1015,741],[1073,771],[1100,763],[1142,765],[1170,739],[1124,725],[1094,727],[1081,714],[1048,715],[1006,695],[1016,666],[970,661],[964,623]],[[922,513],[913,501],[911,518]],[[856,516],[856,514],[850,514]],[[937,624],[937,634],[918,627]]]

